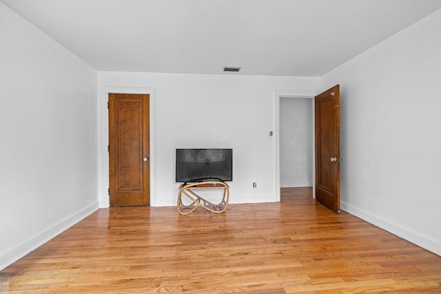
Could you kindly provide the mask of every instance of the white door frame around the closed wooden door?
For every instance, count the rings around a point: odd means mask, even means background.
[[[107,193],[109,189],[109,112],[107,101],[109,93],[117,94],[149,94],[150,95],[150,206],[156,203],[156,89],[147,87],[101,87],[98,101],[98,160],[99,160],[99,207],[110,207],[110,199]]]

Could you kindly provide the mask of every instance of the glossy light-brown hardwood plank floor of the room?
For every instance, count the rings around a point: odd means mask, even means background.
[[[441,293],[440,256],[309,188],[222,214],[100,209],[0,275],[9,293]]]

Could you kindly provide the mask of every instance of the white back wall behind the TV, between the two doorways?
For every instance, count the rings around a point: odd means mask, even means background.
[[[276,193],[275,90],[316,91],[318,78],[100,72],[101,206],[108,205],[107,89],[154,93],[152,206],[174,206],[175,149],[233,149],[230,203],[271,202]],[[103,109],[105,109],[103,111]],[[252,183],[257,183],[257,188]]]

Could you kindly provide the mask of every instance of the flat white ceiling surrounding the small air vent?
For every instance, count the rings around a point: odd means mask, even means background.
[[[321,76],[441,0],[0,0],[96,70]],[[232,73],[228,73],[232,74]]]

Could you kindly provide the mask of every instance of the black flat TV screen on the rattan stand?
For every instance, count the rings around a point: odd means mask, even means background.
[[[233,149],[176,149],[176,182],[233,180]]]

